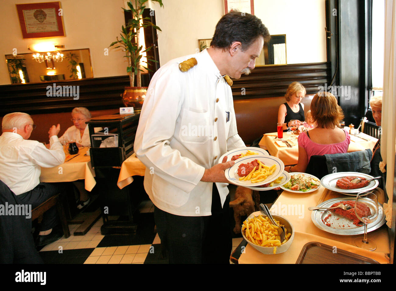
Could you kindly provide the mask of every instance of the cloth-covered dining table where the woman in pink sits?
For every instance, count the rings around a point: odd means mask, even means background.
[[[279,141],[279,139],[275,139],[274,137],[277,136],[276,132],[273,133],[266,133],[263,138],[261,139],[259,146],[264,150],[267,150],[271,156],[276,158],[280,158],[285,165],[295,165],[298,162],[298,143],[297,139],[292,139],[291,141],[294,145],[290,148],[287,147],[286,144]],[[284,132],[283,139],[290,140],[292,136],[292,132]],[[295,135],[297,137],[297,135]],[[364,139],[368,139],[365,141],[356,135],[351,135],[350,144],[348,147],[348,152],[356,152],[358,150],[366,150],[369,148],[373,150],[375,143],[377,143],[378,139],[375,137],[371,137],[365,133],[360,133],[360,137]],[[281,145],[278,145],[278,143]]]

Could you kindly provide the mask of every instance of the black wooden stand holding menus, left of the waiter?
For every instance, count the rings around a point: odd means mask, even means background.
[[[95,170],[97,182],[100,184],[103,215],[101,233],[103,235],[136,233],[137,225],[133,223],[133,213],[139,203],[135,199],[136,195],[131,196],[130,187],[119,189],[117,181],[122,162],[133,154],[139,116],[140,114],[113,114],[92,118],[87,122],[90,136],[95,134],[94,127],[102,127],[105,133],[118,134],[117,147],[91,147],[90,149],[91,164]],[[92,139],[91,145],[93,146]],[[126,216],[127,220],[110,220],[110,215]]]

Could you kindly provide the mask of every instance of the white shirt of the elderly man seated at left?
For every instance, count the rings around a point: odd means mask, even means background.
[[[15,195],[28,192],[40,183],[40,167],[50,168],[65,162],[65,152],[56,135],[51,136],[49,145],[48,149],[13,132],[0,136],[0,180]]]

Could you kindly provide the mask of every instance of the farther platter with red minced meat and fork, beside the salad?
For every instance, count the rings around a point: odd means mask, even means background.
[[[346,178],[346,179],[344,179]],[[338,173],[332,173],[329,175],[324,176],[320,180],[320,184],[322,184],[326,189],[336,191],[343,193],[345,195],[349,196],[356,196],[358,192],[360,191],[369,191],[373,190],[374,188],[377,188],[378,186],[378,180],[371,180],[364,182],[364,180],[360,183],[362,184],[353,184],[350,183],[355,178],[364,178],[364,179],[371,179],[374,178],[373,176],[370,176],[368,174],[363,174],[363,173],[358,173],[358,172],[338,172]],[[338,184],[337,184],[338,182]],[[348,189],[350,186],[358,187],[360,188],[354,188],[354,189]],[[341,188],[342,187],[342,188]]]

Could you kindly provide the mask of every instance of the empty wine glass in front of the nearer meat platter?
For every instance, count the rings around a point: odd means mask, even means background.
[[[378,216],[378,199],[373,192],[360,191],[356,196],[355,215],[364,223],[364,236],[355,239],[355,245],[368,251],[374,251],[377,245],[367,239],[367,224],[373,223]]]

